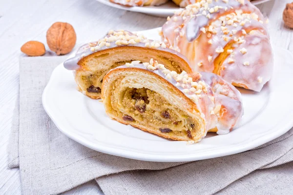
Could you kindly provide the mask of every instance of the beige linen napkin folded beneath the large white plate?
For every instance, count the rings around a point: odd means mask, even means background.
[[[24,195],[59,194],[92,179],[105,195],[243,193],[247,188],[241,185],[260,189],[268,178],[283,187],[284,193],[292,192],[292,185],[289,188],[283,180],[275,179],[278,175],[274,170],[286,178],[291,176],[293,129],[251,151],[188,163],[111,156],[64,136],[42,107],[42,91],[53,69],[65,58],[20,59],[20,96],[14,111],[8,166],[20,167]],[[266,189],[280,192],[279,188]]]

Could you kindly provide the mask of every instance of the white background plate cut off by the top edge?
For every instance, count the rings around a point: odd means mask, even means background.
[[[183,9],[178,7],[171,0],[160,6],[143,6],[143,7],[128,7],[128,6],[112,3],[109,0],[97,0],[97,1],[108,6],[118,8],[118,9],[124,9],[124,10],[132,11],[132,12],[140,12],[140,13],[144,13],[148,15],[159,16],[159,17],[172,16],[174,14],[174,11]],[[258,5],[260,3],[264,3],[267,1],[269,0],[254,0],[252,1],[252,4]]]

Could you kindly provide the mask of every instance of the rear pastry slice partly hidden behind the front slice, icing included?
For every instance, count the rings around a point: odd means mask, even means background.
[[[146,39],[128,31],[109,31],[105,38],[81,47],[76,56],[67,59],[64,67],[75,70],[75,81],[85,95],[101,97],[105,74],[133,60],[149,61],[151,58],[176,73],[192,72],[187,59],[165,43]]]

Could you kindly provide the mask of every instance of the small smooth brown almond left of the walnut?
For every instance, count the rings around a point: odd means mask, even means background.
[[[35,40],[24,43],[21,46],[21,51],[28,56],[42,56],[46,53],[44,44]]]

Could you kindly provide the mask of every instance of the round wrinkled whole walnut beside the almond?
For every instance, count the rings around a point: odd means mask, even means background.
[[[71,52],[76,42],[74,28],[66,22],[55,22],[47,31],[47,44],[57,55]]]

